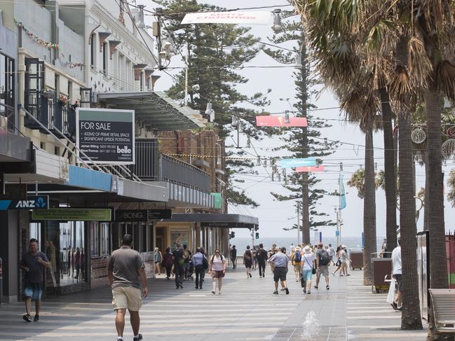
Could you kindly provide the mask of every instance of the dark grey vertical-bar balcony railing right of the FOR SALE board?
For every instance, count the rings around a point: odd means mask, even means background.
[[[136,141],[136,164],[129,167],[142,181],[169,181],[210,191],[210,174],[158,151],[158,141]]]

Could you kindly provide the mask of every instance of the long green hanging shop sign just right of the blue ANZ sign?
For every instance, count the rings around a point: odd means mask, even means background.
[[[33,221],[112,221],[113,209],[34,209]]]

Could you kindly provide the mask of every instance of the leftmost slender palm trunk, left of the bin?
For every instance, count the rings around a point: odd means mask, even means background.
[[[376,184],[374,181],[373,127],[365,132],[365,197],[363,198],[363,284],[372,283],[372,253],[376,252]]]

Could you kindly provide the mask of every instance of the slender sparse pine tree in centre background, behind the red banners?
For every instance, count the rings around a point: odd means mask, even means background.
[[[311,95],[311,85],[314,85],[315,80],[310,76],[310,64],[304,43],[304,29],[301,22],[286,20],[282,23],[283,32],[275,34],[270,40],[273,43],[294,42],[292,48],[294,52],[276,50],[271,48],[264,49],[264,52],[274,60],[283,64],[296,64],[297,71],[294,71],[295,79],[295,99],[297,102],[293,104],[295,116],[308,119],[308,127],[291,128],[284,137],[285,146],[283,149],[290,152],[290,158],[321,158],[333,153],[333,148],[337,146],[336,142],[327,141],[321,136],[320,129],[330,127],[324,120],[315,118],[309,114],[309,109],[314,108],[308,102]],[[327,220],[329,216],[326,212],[318,211],[316,203],[322,199],[324,195],[330,193],[327,190],[318,188],[320,179],[317,176],[308,173],[297,173],[287,175],[287,184],[283,187],[290,191],[289,195],[280,195],[271,193],[276,200],[301,200],[302,202],[302,242],[307,244],[310,242],[310,230],[320,226],[336,225],[331,220]],[[297,228],[294,225],[292,228]]]

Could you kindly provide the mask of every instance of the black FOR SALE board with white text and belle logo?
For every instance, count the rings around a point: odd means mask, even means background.
[[[135,111],[77,108],[76,146],[97,164],[134,165]]]

